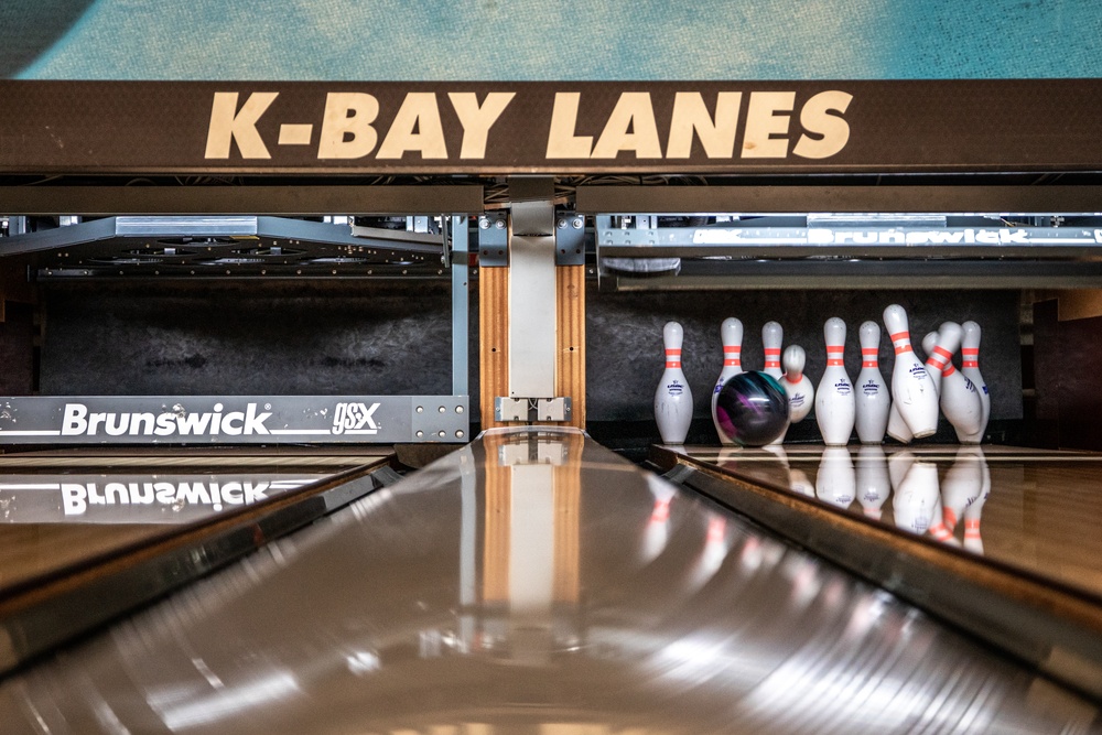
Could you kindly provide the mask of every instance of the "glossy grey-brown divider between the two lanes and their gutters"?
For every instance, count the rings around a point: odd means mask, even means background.
[[[0,682],[10,733],[1102,732],[571,430],[495,430]]]

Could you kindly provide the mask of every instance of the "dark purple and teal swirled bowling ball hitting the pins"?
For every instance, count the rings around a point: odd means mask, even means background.
[[[765,446],[788,425],[788,393],[765,372],[739,372],[723,383],[715,419],[739,446]]]

